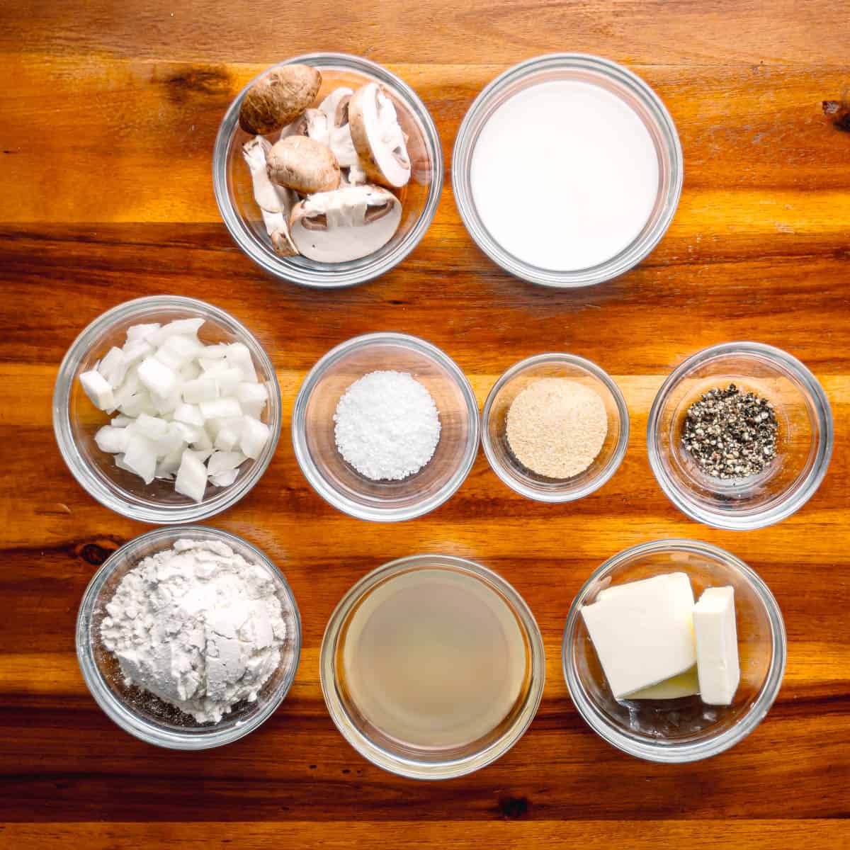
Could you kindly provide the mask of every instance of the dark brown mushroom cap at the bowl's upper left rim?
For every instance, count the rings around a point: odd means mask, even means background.
[[[246,133],[275,133],[313,105],[321,74],[311,65],[282,65],[263,74],[249,88],[239,107],[239,124]]]

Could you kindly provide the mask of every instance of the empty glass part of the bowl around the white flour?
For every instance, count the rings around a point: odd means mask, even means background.
[[[275,595],[280,600],[286,622],[286,643],[281,650],[280,665],[263,684],[257,700],[237,703],[233,711],[224,715],[218,723],[197,723],[193,717],[154,694],[127,685],[118,661],[105,649],[100,637],[105,607],[127,572],[144,558],[187,538],[226,543],[246,561],[262,566],[275,583]],[[253,732],[286,697],[295,678],[300,654],[301,618],[292,590],[280,570],[258,548],[241,537],[201,526],[156,529],[126,543],[94,574],[77,615],[77,660],[94,700],[107,717],[125,732],[171,750],[207,750],[230,744]]]

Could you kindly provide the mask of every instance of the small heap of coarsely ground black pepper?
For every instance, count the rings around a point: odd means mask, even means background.
[[[778,431],[774,405],[730,383],[690,405],[682,443],[700,469],[714,478],[748,478],[776,456]]]

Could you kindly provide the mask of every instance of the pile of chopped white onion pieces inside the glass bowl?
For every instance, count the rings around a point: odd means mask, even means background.
[[[94,369],[83,390],[100,410],[120,411],[94,436],[115,463],[150,484],[174,479],[174,489],[201,501],[207,483],[229,487],[248,457],[269,441],[260,421],[268,389],[257,380],[243,343],[205,345],[201,319],[127,329]]]

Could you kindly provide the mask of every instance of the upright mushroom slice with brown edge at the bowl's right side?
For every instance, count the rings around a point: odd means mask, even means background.
[[[411,178],[411,159],[405,134],[389,95],[369,82],[358,88],[348,103],[348,122],[354,148],[371,180],[390,188]]]

